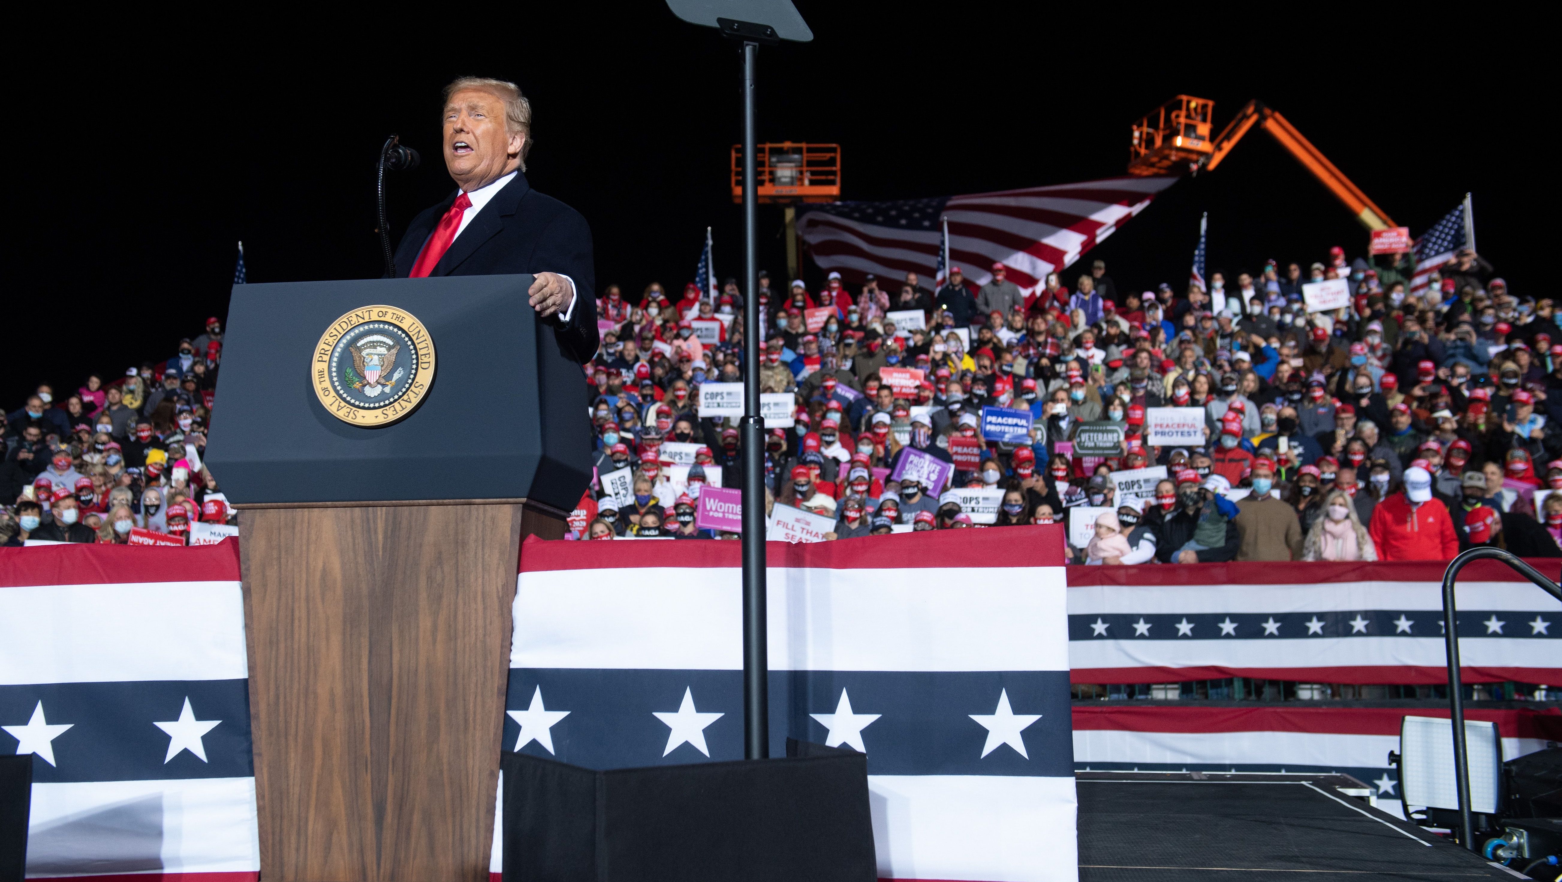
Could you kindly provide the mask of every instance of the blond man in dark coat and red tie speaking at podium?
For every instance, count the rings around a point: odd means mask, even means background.
[[[531,103],[514,83],[462,76],[445,86],[442,151],[459,187],[408,226],[397,276],[531,273],[528,295],[565,357],[597,354],[590,226],[526,183]]]

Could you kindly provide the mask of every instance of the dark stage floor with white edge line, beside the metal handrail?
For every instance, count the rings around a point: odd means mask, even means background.
[[[1515,879],[1337,774],[1082,771],[1081,882]]]

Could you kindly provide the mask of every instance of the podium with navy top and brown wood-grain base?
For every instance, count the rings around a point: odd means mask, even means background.
[[[520,542],[562,537],[590,473],[530,283],[234,286],[208,461],[239,509],[266,882],[487,879]],[[370,304],[437,351],[386,426],[311,389],[322,333]]]

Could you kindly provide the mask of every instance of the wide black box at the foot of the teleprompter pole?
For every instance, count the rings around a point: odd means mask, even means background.
[[[505,882],[875,882],[867,756],[592,771],[505,752]]]

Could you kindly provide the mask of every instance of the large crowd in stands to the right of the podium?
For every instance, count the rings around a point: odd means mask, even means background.
[[[1415,290],[1410,254],[1342,248],[1182,292],[1118,290],[1101,261],[1072,289],[1053,273],[1026,292],[990,270],[978,287],[951,267],[937,290],[915,273],[853,289],[829,273],[818,290],[761,276],[761,389],[795,406],[792,428],[765,434],[769,506],[834,518],[825,539],[1065,523],[1086,506],[1093,537],[1070,554],[1103,565],[1562,556],[1557,315],[1479,254]],[[1348,279],[1350,306],[1309,311],[1303,284],[1323,279]],[[737,420],[698,403],[703,384],[742,379],[748,306],[736,279],[676,301],[659,284],[603,292],[595,467],[633,470],[633,495],[598,482],[584,539],[734,537],[697,509],[703,487],[739,484]],[[1029,411],[1028,442],[981,440],[984,407]],[[1148,443],[1154,407],[1203,409],[1203,442]],[[1101,423],[1122,429],[1117,456],[1075,454]],[[956,462],[970,443],[954,439],[976,439],[979,457]],[[697,445],[687,473],[669,442]],[[951,478],[892,479],[908,451]],[[1153,498],[1114,498],[1114,471],[1154,465],[1167,476]],[[962,487],[1001,490],[997,515],[962,510]]]

